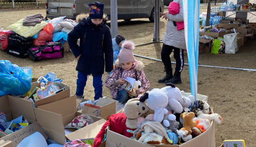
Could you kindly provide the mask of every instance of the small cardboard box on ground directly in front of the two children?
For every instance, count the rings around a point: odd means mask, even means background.
[[[97,102],[97,105],[85,104],[82,109],[82,113],[94,115],[96,117],[101,117],[107,120],[109,115],[115,114],[115,100],[100,98]]]

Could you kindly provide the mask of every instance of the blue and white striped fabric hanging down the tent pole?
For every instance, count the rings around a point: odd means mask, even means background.
[[[200,0],[183,0],[186,48],[188,50],[191,93],[197,99],[197,70],[199,54]],[[188,23],[189,22],[189,23]]]

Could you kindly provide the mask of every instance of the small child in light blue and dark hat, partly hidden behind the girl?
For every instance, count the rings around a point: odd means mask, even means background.
[[[114,52],[114,61],[118,59],[119,52],[122,49],[122,43],[125,41],[125,37],[122,37],[121,35],[117,35],[117,37],[112,38],[112,45],[113,45],[113,52]]]

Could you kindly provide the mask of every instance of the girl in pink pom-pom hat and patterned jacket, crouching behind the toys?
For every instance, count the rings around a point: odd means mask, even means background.
[[[149,81],[144,73],[144,64],[137,61],[133,56],[134,43],[132,41],[125,41],[122,44],[118,59],[115,62],[115,68],[108,75],[105,85],[109,88],[111,96],[119,102],[125,103],[129,99],[137,97],[142,93],[149,90]],[[136,90],[136,95],[133,96],[131,93],[124,88],[123,84],[126,83],[126,77],[136,79],[141,82],[141,87]]]

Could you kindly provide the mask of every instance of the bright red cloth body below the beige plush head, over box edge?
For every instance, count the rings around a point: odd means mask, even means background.
[[[93,147],[98,147],[101,144],[104,138],[105,129],[108,126],[110,127],[110,130],[113,132],[116,132],[118,134],[124,135],[129,138],[133,137],[133,134],[131,134],[130,132],[127,132],[127,129],[133,130],[133,131],[135,129],[130,129],[126,127],[125,123],[126,123],[125,113],[117,113],[117,114],[111,115],[109,117],[109,120],[106,121],[106,123],[104,123],[104,125],[101,127],[100,132],[95,137],[93,142]]]

